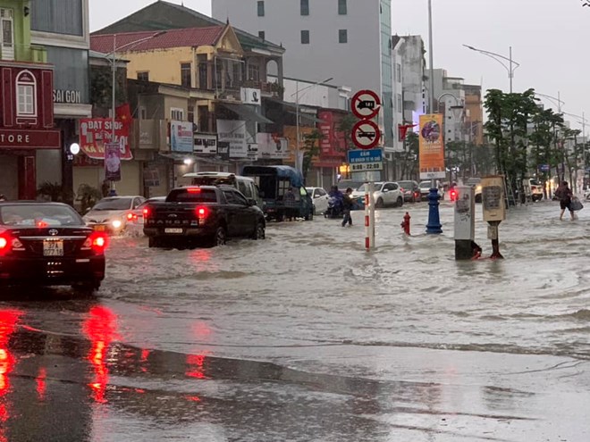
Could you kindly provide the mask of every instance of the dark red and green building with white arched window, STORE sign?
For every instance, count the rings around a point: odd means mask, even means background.
[[[29,0],[0,1],[0,193],[9,199],[35,199],[40,183],[61,179],[54,66],[46,63],[46,48],[31,43],[38,7]],[[48,17],[46,26],[52,26]]]

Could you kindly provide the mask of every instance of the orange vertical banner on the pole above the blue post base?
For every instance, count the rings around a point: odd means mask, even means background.
[[[420,115],[420,179],[441,179],[444,168],[443,114]]]

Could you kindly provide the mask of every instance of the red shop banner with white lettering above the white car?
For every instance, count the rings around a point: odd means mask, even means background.
[[[94,160],[105,159],[105,144],[119,146],[120,159],[132,160],[129,146],[129,125],[114,121],[114,140],[111,128],[113,121],[108,118],[84,118],[80,120],[80,149]]]

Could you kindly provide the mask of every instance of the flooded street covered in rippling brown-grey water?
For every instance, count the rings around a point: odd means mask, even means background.
[[[439,236],[426,203],[377,211],[371,253],[361,212],[114,238],[96,297],[2,298],[0,441],[590,440],[590,214],[514,208],[505,260],[458,263],[452,211]]]

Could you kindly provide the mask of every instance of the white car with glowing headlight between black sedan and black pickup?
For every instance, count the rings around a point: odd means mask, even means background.
[[[133,219],[133,210],[146,201],[139,195],[106,196],[83,216],[89,227],[99,231],[121,233]]]

